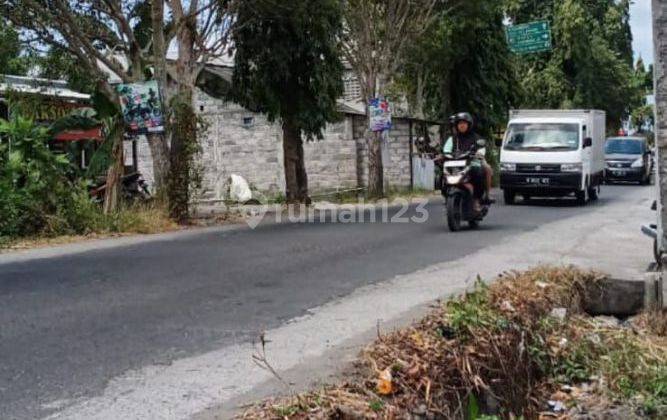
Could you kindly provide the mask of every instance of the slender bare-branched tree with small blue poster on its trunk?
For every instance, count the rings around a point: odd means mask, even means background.
[[[343,54],[361,84],[363,100],[386,96],[409,49],[433,22],[438,0],[346,0]],[[370,118],[370,115],[369,115]],[[369,121],[370,126],[370,121]],[[367,135],[368,195],[384,194],[381,134]]]

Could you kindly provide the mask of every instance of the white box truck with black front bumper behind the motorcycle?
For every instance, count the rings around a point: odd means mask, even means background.
[[[605,169],[606,114],[598,110],[512,110],[500,152],[500,188],[516,196],[595,200]]]

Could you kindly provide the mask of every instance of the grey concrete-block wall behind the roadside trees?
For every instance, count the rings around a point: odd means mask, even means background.
[[[203,200],[225,198],[226,183],[232,174],[244,177],[251,186],[269,196],[284,193],[282,130],[263,114],[236,104],[197,95],[197,112],[206,125],[202,154]],[[322,140],[306,142],[304,153],[311,194],[366,185],[366,118],[346,114],[330,124]],[[388,189],[410,186],[409,122],[395,120],[384,149],[385,185]],[[148,142],[138,140],[139,170],[153,179]],[[131,150],[131,148],[130,148]]]

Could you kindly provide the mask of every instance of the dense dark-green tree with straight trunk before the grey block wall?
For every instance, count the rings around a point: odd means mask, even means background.
[[[338,0],[246,0],[234,32],[239,102],[280,120],[287,201],[308,202],[303,136],[322,138],[342,95]]]

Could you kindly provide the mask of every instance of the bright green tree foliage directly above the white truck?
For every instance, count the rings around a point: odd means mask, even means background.
[[[617,129],[643,100],[633,82],[628,0],[509,0],[515,23],[548,19],[552,52],[516,57],[521,107],[597,108]]]

